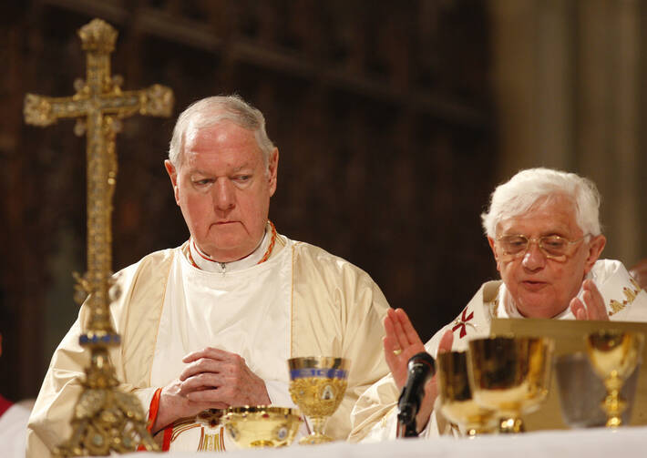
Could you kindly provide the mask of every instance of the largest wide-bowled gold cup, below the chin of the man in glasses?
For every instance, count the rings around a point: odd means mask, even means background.
[[[474,400],[498,412],[499,433],[524,432],[521,414],[537,410],[548,395],[554,342],[540,337],[491,337],[468,345]]]

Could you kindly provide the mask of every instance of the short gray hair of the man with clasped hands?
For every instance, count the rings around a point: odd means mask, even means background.
[[[169,160],[178,167],[182,162],[187,135],[201,128],[214,126],[222,121],[251,130],[262,151],[265,168],[274,150],[272,140],[265,131],[265,117],[261,111],[245,102],[240,96],[215,96],[198,100],[185,109],[173,128],[169,144]]]

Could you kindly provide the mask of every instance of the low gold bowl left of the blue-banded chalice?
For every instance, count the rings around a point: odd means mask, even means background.
[[[301,414],[288,407],[230,407],[221,422],[241,448],[284,447],[293,442]]]

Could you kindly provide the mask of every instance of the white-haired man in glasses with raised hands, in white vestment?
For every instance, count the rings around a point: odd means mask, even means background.
[[[355,404],[349,440],[395,438],[408,359],[419,351],[466,350],[469,339],[489,335],[492,317],[647,321],[647,293],[620,261],[599,260],[606,243],[599,208],[595,185],[573,173],[528,169],[498,186],[481,218],[501,280],[484,283],[426,345],[404,310],[389,310],[384,349],[391,374]],[[448,432],[435,400],[436,377],[416,416],[421,436]]]

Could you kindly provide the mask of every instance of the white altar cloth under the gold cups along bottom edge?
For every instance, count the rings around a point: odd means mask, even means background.
[[[142,458],[141,453],[128,453]],[[154,455],[159,456],[159,455]],[[329,443],[293,445],[282,449],[241,450],[221,453],[169,453],[169,458],[644,458],[647,456],[647,426],[610,431],[604,428],[571,431],[540,431],[517,435],[481,436],[475,439],[439,437],[432,440],[403,439],[385,443]]]

